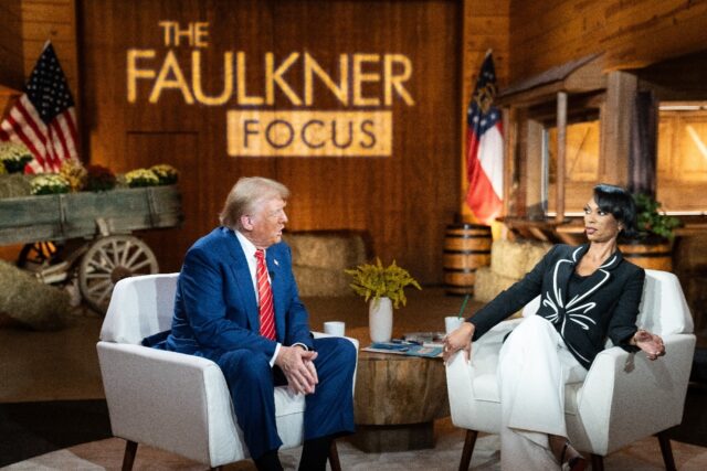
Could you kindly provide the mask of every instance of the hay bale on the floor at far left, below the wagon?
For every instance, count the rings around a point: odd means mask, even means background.
[[[0,260],[0,313],[35,330],[59,330],[70,312],[68,293],[40,282],[27,271]]]

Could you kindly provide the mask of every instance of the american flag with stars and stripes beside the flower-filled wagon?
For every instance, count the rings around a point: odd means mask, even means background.
[[[57,172],[62,162],[77,159],[74,99],[54,47],[44,46],[24,94],[0,122],[0,141],[21,142],[34,156],[25,173]]]

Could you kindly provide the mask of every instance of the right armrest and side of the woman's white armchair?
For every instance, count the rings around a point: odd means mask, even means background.
[[[594,452],[606,454],[682,421],[695,335],[664,338],[666,355],[614,346],[594,360],[578,400],[578,413]]]

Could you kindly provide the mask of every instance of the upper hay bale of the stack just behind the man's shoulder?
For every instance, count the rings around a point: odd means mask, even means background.
[[[363,239],[355,233],[289,233],[283,239],[292,248],[294,266],[342,270],[366,260]]]

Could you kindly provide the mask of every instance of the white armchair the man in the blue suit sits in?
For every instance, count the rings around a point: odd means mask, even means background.
[[[178,274],[120,280],[113,291],[97,344],[110,427],[127,440],[123,469],[137,443],[218,468],[249,458],[225,378],[210,360],[140,345],[171,327]],[[315,334],[321,336],[323,334]],[[357,347],[358,342],[349,339]],[[305,400],[275,388],[282,449],[303,443]],[[329,461],[340,469],[336,445]]]

